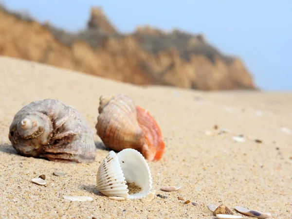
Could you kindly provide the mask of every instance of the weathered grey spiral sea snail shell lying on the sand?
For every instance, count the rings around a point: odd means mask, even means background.
[[[9,140],[22,156],[66,163],[95,160],[93,132],[85,118],[58,100],[34,101],[19,110]]]

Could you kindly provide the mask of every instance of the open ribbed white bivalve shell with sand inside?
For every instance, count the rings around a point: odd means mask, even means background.
[[[150,193],[152,177],[143,155],[127,148],[117,154],[110,151],[98,168],[96,183],[98,190],[106,196],[125,200],[142,199]],[[135,183],[142,189],[138,193],[128,194],[126,183]]]

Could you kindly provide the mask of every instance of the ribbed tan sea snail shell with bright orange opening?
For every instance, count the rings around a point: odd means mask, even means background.
[[[162,158],[165,145],[158,124],[127,95],[101,96],[98,112],[95,128],[105,146],[136,149],[148,161]]]

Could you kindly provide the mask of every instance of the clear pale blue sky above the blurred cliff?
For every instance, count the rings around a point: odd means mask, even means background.
[[[0,0],[1,1],[1,0]],[[119,31],[149,24],[203,33],[220,51],[238,55],[264,90],[292,90],[292,0],[2,0],[69,31],[86,28],[101,6]]]

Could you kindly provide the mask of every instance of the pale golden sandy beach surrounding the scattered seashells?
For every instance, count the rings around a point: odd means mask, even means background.
[[[139,87],[3,56],[0,82],[0,218],[214,219],[210,203],[223,203],[241,216],[234,206],[269,212],[273,219],[292,218],[292,92]],[[113,201],[96,188],[97,169],[109,153],[95,130],[99,97],[120,93],[148,110],[164,136],[162,160],[148,162],[155,192],[150,202]],[[95,162],[23,157],[11,146],[14,115],[46,98],[82,113],[94,132]],[[235,141],[237,135],[245,141]],[[55,171],[66,175],[54,176]],[[45,186],[31,182],[41,174]],[[161,191],[166,185],[182,188]],[[66,201],[64,195],[93,201]]]

